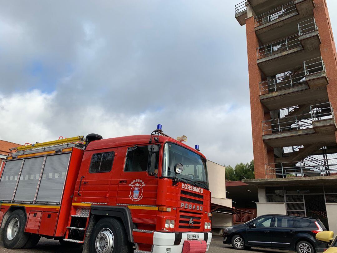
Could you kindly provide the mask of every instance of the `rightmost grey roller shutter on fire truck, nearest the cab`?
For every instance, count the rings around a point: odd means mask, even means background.
[[[48,156],[42,173],[37,202],[60,202],[70,153]]]

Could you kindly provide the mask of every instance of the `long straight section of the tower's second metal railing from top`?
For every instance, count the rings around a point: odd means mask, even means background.
[[[257,59],[281,53],[283,51],[300,47],[299,35],[294,35],[285,39],[281,39],[269,45],[265,45],[256,49]]]

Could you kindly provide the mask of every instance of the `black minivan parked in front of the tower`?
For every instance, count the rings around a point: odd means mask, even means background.
[[[235,249],[250,247],[293,250],[298,253],[323,252],[329,246],[315,235],[326,228],[319,219],[288,215],[262,215],[244,224],[227,227],[223,243]]]

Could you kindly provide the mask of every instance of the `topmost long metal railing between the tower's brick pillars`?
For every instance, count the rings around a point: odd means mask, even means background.
[[[297,12],[294,1],[255,17],[255,27],[267,24],[290,13]]]

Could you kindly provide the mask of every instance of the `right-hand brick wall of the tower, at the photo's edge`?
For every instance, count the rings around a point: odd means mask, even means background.
[[[314,16],[321,39],[320,52],[329,79],[327,86],[329,101],[334,109],[335,118],[337,118],[337,53],[325,0],[315,0]],[[337,132],[335,132],[335,136],[337,139]]]

